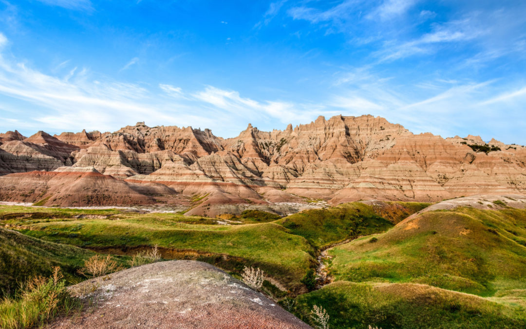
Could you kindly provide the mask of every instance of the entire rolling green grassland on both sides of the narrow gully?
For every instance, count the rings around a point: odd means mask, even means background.
[[[163,258],[231,273],[260,267],[276,284],[266,282],[266,291],[281,298],[277,286],[305,292],[300,280],[322,248],[363,236],[328,251],[335,282],[297,296],[292,312],[313,324],[310,310],[322,306],[331,328],[526,327],[526,210],[464,207],[401,222],[427,205],[349,203],[285,218],[250,211],[231,225],[173,213],[0,206],[0,225],[18,231],[0,228],[0,262],[11,271],[2,282],[11,290],[53,265],[76,282],[93,251],[133,255],[158,245]]]

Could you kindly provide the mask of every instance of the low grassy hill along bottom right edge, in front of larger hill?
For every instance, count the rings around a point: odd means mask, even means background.
[[[294,313],[314,325],[313,305],[330,328],[524,328],[524,304],[422,284],[338,281],[296,298]]]

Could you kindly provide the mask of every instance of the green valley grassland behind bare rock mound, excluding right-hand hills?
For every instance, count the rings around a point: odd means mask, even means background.
[[[238,273],[245,265],[260,267],[293,291],[315,266],[317,248],[392,226],[361,203],[286,218],[246,211],[233,220],[244,223],[218,225],[212,218],[173,213],[0,206],[0,223],[27,236],[128,255],[158,245],[165,258],[206,261]]]

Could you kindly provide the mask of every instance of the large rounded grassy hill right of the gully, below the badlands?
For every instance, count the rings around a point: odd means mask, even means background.
[[[429,284],[491,296],[526,288],[526,210],[431,211],[338,246],[336,280]]]

